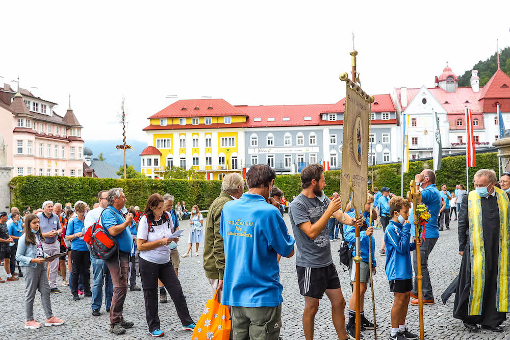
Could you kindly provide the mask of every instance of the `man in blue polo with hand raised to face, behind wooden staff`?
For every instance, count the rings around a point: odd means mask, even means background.
[[[430,218],[425,224],[425,236],[423,237],[423,244],[420,247],[421,254],[421,275],[422,288],[423,288],[423,304],[434,304],[434,295],[432,293],[432,284],[430,282],[430,274],[428,272],[428,256],[439,238],[438,216],[439,210],[442,206],[442,199],[439,190],[436,187],[436,173],[430,169],[424,169],[421,173],[415,176],[416,190],[421,188],[421,202],[428,206],[430,211]],[[413,216],[414,217],[414,216]],[[411,228],[411,236],[414,237],[415,229]],[[416,251],[413,252],[413,268],[415,271],[415,278],[413,284],[413,291],[411,292],[412,305],[418,305],[418,264],[416,261]]]

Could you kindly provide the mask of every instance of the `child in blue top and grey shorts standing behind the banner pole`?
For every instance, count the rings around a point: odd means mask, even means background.
[[[374,220],[377,218],[377,212],[375,210],[372,211],[372,224],[369,226],[368,223],[370,221],[370,204],[374,201],[374,196],[372,194],[368,194],[367,203],[365,204],[365,210],[363,212],[363,217],[365,221],[363,223],[363,227],[360,231],[360,241],[361,241],[361,257],[362,262],[360,263],[360,282],[361,282],[361,326],[365,329],[373,329],[374,324],[368,321],[365,318],[364,312],[364,302],[365,302],[365,292],[367,291],[368,281],[370,280],[370,269],[369,269],[369,261],[368,261],[368,241],[372,238],[372,249],[370,252],[372,253],[372,270],[376,272],[376,262],[375,262],[375,239],[372,236],[374,232]],[[347,215],[350,217],[354,217],[354,210],[347,212]],[[352,225],[344,225],[344,240],[349,243],[349,249],[354,245],[356,241],[355,236],[355,228]],[[356,255],[356,249],[352,249],[352,257]],[[356,338],[356,265],[354,263],[354,259],[351,258],[351,264],[349,269],[349,275],[351,284],[353,287],[352,295],[349,301],[349,323],[347,324],[347,336],[351,339]],[[361,335],[361,339],[363,340],[363,335]]]

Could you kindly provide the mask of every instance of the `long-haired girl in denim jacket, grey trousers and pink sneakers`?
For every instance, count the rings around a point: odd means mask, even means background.
[[[52,301],[49,298],[50,289],[44,258],[49,255],[43,249],[44,236],[42,236],[39,218],[29,214],[25,218],[23,234],[18,240],[16,261],[23,268],[25,280],[25,328],[40,328],[41,324],[34,320],[34,299],[37,290],[41,293],[41,304],[46,315],[45,326],[58,326],[64,320],[55,317],[52,311]]]

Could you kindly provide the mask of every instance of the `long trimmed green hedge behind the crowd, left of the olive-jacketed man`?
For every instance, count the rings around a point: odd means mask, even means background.
[[[170,193],[175,201],[186,201],[189,210],[193,204],[203,210],[211,205],[221,191],[219,180],[23,176],[14,177],[10,184],[11,206],[30,205],[32,208],[42,206],[45,200],[62,204],[83,200],[92,207],[92,203],[97,202],[99,191],[121,187],[127,198],[126,205],[138,205],[142,210],[147,198],[154,193]]]

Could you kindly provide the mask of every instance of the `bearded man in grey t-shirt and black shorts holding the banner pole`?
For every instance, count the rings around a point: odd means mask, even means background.
[[[340,280],[331,258],[327,222],[331,216],[342,221],[340,198],[330,200],[323,192],[326,187],[324,168],[312,164],[301,170],[303,191],[290,203],[289,217],[297,246],[296,270],[299,290],[304,296],[303,330],[307,339],[313,338],[315,315],[319,299],[326,293],[331,302],[333,324],[339,339],[347,338],[345,331],[345,300]],[[344,224],[356,221],[345,214]],[[360,220],[360,223],[363,223]]]

